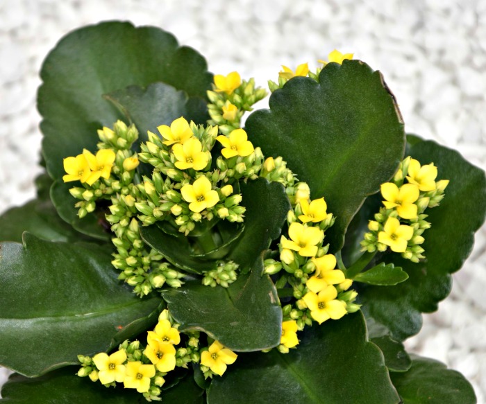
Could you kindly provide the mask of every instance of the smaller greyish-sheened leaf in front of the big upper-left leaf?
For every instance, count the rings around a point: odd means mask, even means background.
[[[105,98],[115,104],[129,121],[135,123],[140,141],[146,141],[147,130],[158,133],[159,125],[170,125],[174,119],[184,116],[187,121],[206,123],[210,118],[206,100],[187,97],[163,82],[156,82],[146,89],[130,86],[106,94]]]

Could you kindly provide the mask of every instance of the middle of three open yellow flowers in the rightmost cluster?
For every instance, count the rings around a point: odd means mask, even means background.
[[[417,218],[417,205],[414,202],[419,199],[419,187],[415,184],[404,184],[400,188],[393,182],[381,184],[381,195],[385,198],[383,204],[387,209],[396,207],[396,212],[403,219]]]

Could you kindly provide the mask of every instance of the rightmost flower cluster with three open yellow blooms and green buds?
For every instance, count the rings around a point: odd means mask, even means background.
[[[439,205],[449,184],[448,179],[435,182],[436,177],[433,163],[421,166],[411,157],[404,159],[393,181],[381,185],[385,207],[369,221],[362,251],[384,252],[390,248],[415,263],[425,258],[422,234],[430,228],[430,222],[425,220],[424,211]]]

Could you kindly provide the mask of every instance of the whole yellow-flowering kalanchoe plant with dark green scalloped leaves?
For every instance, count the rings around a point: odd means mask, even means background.
[[[267,91],[158,28],[59,42],[47,174],[0,218],[3,400],[476,402],[403,340],[471,251],[485,174],[406,136],[378,71],[319,63],[242,128]]]

